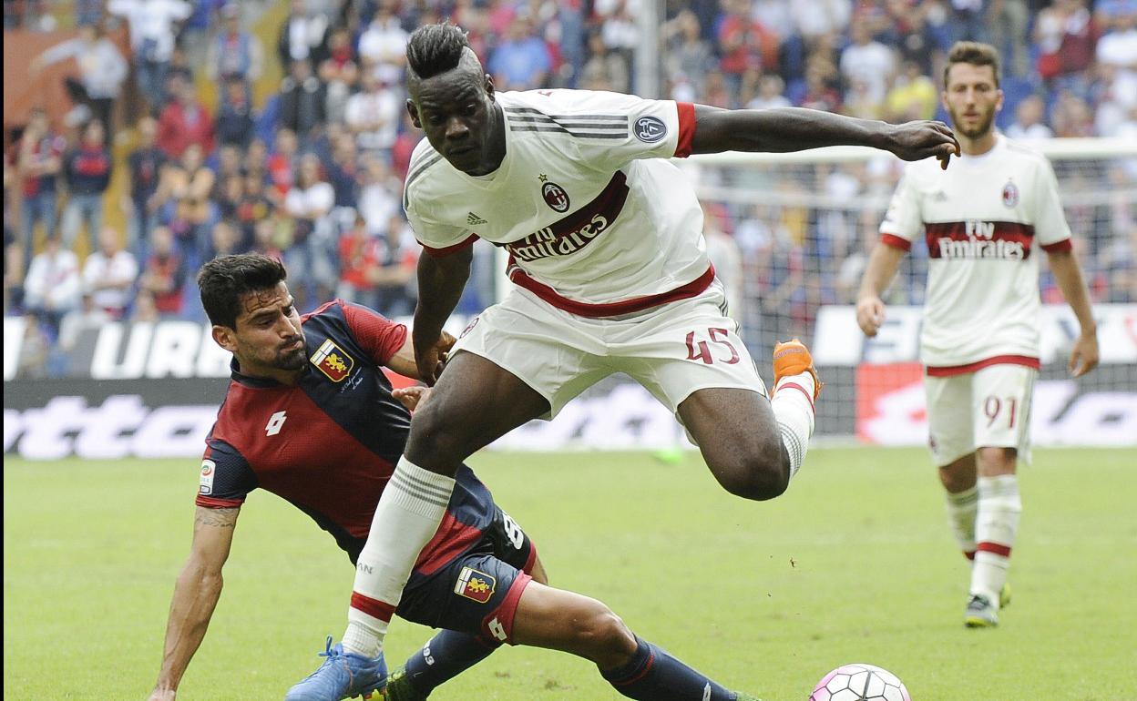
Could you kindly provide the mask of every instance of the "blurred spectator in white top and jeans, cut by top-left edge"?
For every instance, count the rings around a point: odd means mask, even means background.
[[[189,18],[193,8],[182,0],[109,0],[107,11],[126,18],[139,90],[150,100],[152,110],[161,109],[167,100],[166,70],[174,52],[176,26]]]

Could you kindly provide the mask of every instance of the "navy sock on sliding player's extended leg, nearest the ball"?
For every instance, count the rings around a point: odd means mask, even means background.
[[[613,689],[639,701],[736,701],[737,696],[637,636],[630,662],[600,670]]]

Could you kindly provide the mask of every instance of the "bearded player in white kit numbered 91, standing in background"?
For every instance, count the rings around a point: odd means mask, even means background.
[[[947,172],[906,167],[861,283],[857,323],[877,334],[880,294],[923,231],[931,259],[920,339],[929,444],[955,537],[973,560],[964,624],[991,627],[1001,599],[1010,599],[1006,573],[1022,510],[1015,465],[1030,459],[1039,248],[1081,325],[1070,354],[1074,377],[1097,365],[1097,337],[1054,170],[991,126],[1003,106],[994,48],[952,48],[943,101],[963,153]]]

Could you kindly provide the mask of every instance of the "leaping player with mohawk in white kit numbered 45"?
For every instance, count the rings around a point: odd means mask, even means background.
[[[497,93],[464,32],[448,23],[416,30],[407,62],[407,109],[426,134],[404,194],[426,252],[414,344],[421,377],[437,385],[414,417],[358,559],[348,659],[380,652],[462,460],[530,419],[554,416],[612,373],[629,374],[675,411],[724,489],[756,500],[786,490],[813,432],[813,361],[800,343],[780,347],[767,398],[725,314],[698,201],[666,159],[863,144],[946,167],[958,152],[936,122],[893,126],[572,90]],[[476,239],[509,252],[515,287],[439,357],[430,347],[458,301]],[[526,606],[524,593],[518,606]],[[625,643],[629,662],[601,670],[634,679],[621,693],[687,699],[667,682],[687,673],[632,636]],[[698,689],[695,701],[727,698]]]

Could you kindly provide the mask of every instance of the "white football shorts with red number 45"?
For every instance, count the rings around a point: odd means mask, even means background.
[[[549,402],[550,419],[614,373],[639,382],[673,412],[697,390],[735,387],[766,397],[715,279],[698,297],[622,317],[580,317],[514,287],[462,333],[466,351],[516,375]]]

